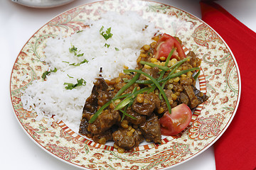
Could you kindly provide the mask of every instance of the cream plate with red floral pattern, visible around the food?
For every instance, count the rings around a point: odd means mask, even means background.
[[[41,79],[48,69],[41,62],[48,38],[69,36],[86,28],[106,11],[136,11],[163,33],[178,36],[187,50],[201,57],[199,86],[209,96],[196,108],[191,124],[178,136],[166,137],[161,145],[149,144],[119,154],[114,147],[100,145],[76,134],[63,122],[48,125],[36,120],[34,111],[21,103],[22,90]],[[38,30],[19,53],[11,74],[11,101],[23,129],[32,140],[55,157],[85,169],[165,169],[196,157],[213,145],[230,124],[240,98],[240,74],[232,52],[215,31],[186,11],[151,1],[99,1],[70,9]]]

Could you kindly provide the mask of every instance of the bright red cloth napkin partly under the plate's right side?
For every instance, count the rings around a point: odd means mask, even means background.
[[[202,20],[228,44],[242,80],[238,111],[214,145],[216,169],[256,169],[256,33],[215,2],[200,4]]]

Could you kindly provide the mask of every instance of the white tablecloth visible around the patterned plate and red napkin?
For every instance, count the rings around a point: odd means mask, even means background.
[[[9,93],[11,69],[16,57],[31,35],[50,19],[70,8],[93,2],[76,0],[56,8],[29,8],[14,4],[10,0],[0,1],[0,51],[1,51],[1,154],[0,169],[78,169],[50,156],[36,145],[18,125]],[[199,0],[159,0],[164,4],[176,6],[201,18]],[[219,0],[216,1],[247,27],[256,32],[255,0]],[[4,138],[4,140],[2,140]],[[215,169],[213,146],[197,157],[175,166],[174,170]]]

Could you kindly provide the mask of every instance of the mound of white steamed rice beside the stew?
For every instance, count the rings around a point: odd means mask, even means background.
[[[68,38],[59,36],[48,39],[44,50],[46,57],[42,60],[48,63],[50,69],[58,71],[51,72],[46,81],[33,81],[21,96],[23,108],[36,111],[37,120],[55,115],[55,120],[63,120],[75,132],[78,132],[82,108],[90,96],[100,67],[105,79],[117,77],[124,66],[129,69],[136,67],[140,48],[149,44],[156,33],[153,24],[132,12],[123,15],[105,13],[100,20],[85,24],[90,24],[90,28]],[[112,38],[105,40],[100,35],[102,26],[104,30],[111,28]],[[142,31],[145,26],[148,27]],[[105,47],[106,43],[110,47]],[[84,53],[82,57],[69,51],[73,45],[78,48],[78,54]],[[70,66],[85,59],[89,62]],[[65,82],[76,84],[77,79],[84,79],[86,85],[65,89]]]

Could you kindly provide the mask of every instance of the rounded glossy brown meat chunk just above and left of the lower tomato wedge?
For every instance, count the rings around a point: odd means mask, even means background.
[[[160,102],[156,94],[139,94],[132,103],[132,109],[140,115],[151,115],[155,108],[159,108]]]

